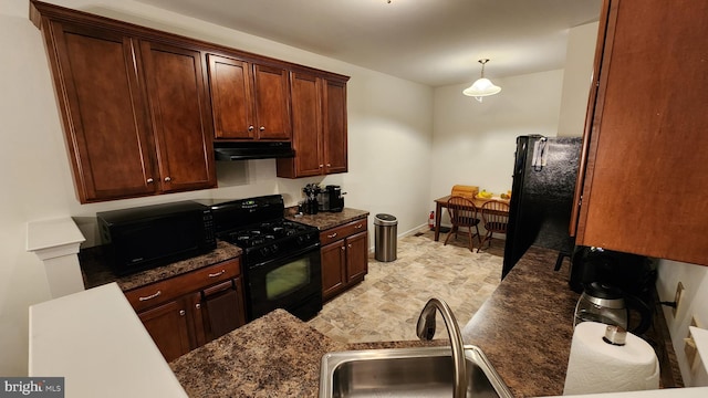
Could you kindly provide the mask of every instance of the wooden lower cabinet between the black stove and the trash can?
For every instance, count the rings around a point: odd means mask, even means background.
[[[364,280],[368,273],[366,219],[322,231],[322,298],[327,301]]]

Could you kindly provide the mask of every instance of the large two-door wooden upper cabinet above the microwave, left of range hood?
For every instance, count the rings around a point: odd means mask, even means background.
[[[32,7],[82,203],[216,186],[198,51],[95,15]]]

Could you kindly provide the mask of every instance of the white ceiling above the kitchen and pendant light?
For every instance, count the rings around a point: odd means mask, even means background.
[[[429,86],[562,69],[602,0],[137,0]],[[268,54],[264,54],[268,55]],[[336,72],[336,71],[335,71]]]

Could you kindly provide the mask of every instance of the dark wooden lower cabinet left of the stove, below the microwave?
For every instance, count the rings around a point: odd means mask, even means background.
[[[238,260],[126,292],[166,360],[246,324]]]

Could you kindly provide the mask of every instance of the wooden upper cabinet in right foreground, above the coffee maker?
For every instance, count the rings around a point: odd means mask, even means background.
[[[708,265],[708,3],[605,0],[571,232]]]

